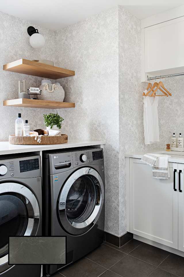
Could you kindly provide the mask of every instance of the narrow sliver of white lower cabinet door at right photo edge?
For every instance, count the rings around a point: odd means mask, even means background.
[[[184,252],[184,164],[178,164],[178,249]]]

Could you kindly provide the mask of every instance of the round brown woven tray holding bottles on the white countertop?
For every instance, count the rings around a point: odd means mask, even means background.
[[[61,134],[61,136],[41,136],[41,142],[35,140],[35,136],[9,136],[10,144],[20,145],[47,145],[47,144],[62,144],[68,142],[68,135]]]

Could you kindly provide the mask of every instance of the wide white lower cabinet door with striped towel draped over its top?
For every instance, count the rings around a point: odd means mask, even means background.
[[[175,187],[174,190],[174,169]],[[130,232],[178,249],[178,164],[169,163],[170,178],[157,180],[152,168],[130,159]]]

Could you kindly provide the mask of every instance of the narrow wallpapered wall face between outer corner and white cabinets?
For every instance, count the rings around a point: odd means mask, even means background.
[[[127,231],[126,153],[144,150],[141,92],[141,20],[118,6],[119,31],[119,236]]]

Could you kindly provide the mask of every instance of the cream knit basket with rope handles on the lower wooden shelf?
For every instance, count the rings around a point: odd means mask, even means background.
[[[64,89],[62,86],[45,83],[41,85],[39,89],[41,89],[41,95],[37,95],[39,100],[56,102],[63,102],[64,100]]]

